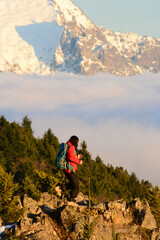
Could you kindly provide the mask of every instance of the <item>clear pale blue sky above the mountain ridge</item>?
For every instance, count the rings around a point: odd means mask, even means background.
[[[96,24],[160,38],[160,0],[72,0]]]

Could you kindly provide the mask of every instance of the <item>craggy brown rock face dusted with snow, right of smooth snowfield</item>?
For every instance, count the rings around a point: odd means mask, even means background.
[[[65,27],[55,52],[54,70],[86,75],[106,72],[120,76],[160,71],[159,39],[95,26],[82,12],[80,24],[76,7],[76,16],[65,9],[71,19],[68,21],[68,15],[62,13],[61,1],[55,0],[53,6],[59,10],[58,23]]]

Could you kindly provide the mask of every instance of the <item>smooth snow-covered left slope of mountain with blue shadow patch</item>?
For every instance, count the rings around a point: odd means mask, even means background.
[[[52,1],[1,0],[0,29],[1,71],[50,72],[64,29],[57,24]]]

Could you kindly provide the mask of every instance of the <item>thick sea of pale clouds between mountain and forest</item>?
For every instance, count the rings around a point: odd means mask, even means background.
[[[160,74],[91,77],[0,73],[0,115],[32,120],[36,137],[77,135],[93,159],[160,186]]]

